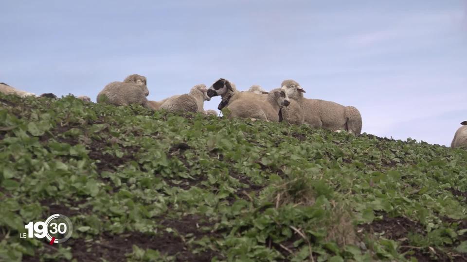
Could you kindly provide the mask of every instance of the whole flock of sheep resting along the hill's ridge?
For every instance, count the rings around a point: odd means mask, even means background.
[[[21,97],[36,96],[21,91],[5,83],[0,83],[0,92],[16,94]],[[98,103],[116,106],[140,104],[151,110],[164,109],[173,113],[199,112],[205,115],[217,115],[214,110],[204,110],[204,101],[220,96],[219,110],[227,108],[229,117],[250,118],[272,122],[285,121],[290,124],[307,124],[312,128],[331,131],[347,131],[358,135],[361,132],[361,115],[353,106],[343,106],[335,102],[303,97],[305,90],[294,80],[285,80],[280,88],[269,92],[259,85],[252,85],[248,91],[238,91],[235,84],[220,78],[207,88],[198,84],[188,94],[176,95],[161,101],[150,101],[147,80],[144,76],[133,74],[123,82],[111,82],[97,95]],[[54,94],[42,94],[42,97],[56,98]],[[79,99],[90,102],[90,98]],[[461,123],[452,140],[451,147],[467,148],[467,121]]]

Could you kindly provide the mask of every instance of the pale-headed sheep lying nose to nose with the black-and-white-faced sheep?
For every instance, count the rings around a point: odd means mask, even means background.
[[[189,94],[174,96],[167,98],[161,105],[160,109],[168,112],[204,112],[204,101],[209,101],[211,98],[207,95],[208,90],[205,84],[197,84],[191,88]]]

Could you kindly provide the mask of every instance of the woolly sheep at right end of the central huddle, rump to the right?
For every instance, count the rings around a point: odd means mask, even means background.
[[[302,113],[294,112],[292,108],[288,112],[284,110],[282,116],[285,121],[288,121],[287,118],[292,116],[291,122],[300,122],[300,114],[303,114],[304,122],[313,128],[324,128],[331,131],[345,130],[353,134],[360,134],[361,115],[357,108],[321,99],[304,98],[305,90],[293,80],[284,80],[281,85],[287,96],[297,101],[302,111]],[[297,107],[294,108],[297,109]]]

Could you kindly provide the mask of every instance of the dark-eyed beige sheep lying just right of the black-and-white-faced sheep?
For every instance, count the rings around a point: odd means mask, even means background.
[[[260,119],[268,122],[279,122],[279,111],[282,106],[287,107],[289,100],[281,88],[273,89],[264,100],[243,97],[228,105],[230,117]]]

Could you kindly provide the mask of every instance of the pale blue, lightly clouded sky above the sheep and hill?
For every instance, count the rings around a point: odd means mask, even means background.
[[[0,82],[87,95],[130,74],[149,100],[218,78],[294,79],[362,132],[449,146],[467,120],[467,0],[0,1]],[[216,109],[219,97],[206,101]]]

